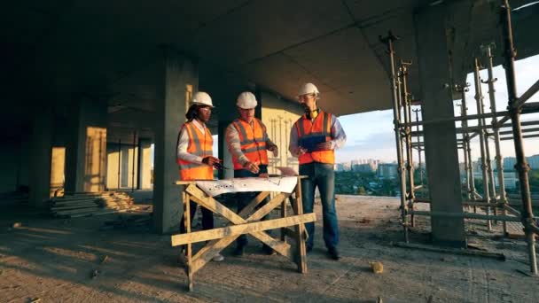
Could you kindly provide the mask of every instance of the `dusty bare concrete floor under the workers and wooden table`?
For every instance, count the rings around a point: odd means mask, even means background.
[[[484,224],[468,224],[469,242],[488,251],[506,253],[508,260],[426,253],[394,248],[401,241],[396,198],[341,196],[342,259],[325,256],[321,229],[309,254],[309,274],[279,256],[259,253],[250,242],[243,258],[225,252],[195,275],[195,291],[176,262],[169,237],[149,229],[99,231],[117,215],[53,220],[7,207],[0,214],[0,301],[27,302],[537,302],[537,280],[521,274],[523,241],[500,242]],[[320,222],[319,206],[316,212]],[[135,215],[135,214],[132,214]],[[147,214],[138,214],[147,215]],[[22,227],[8,226],[20,221]],[[411,233],[426,241],[425,220]],[[496,227],[497,230],[501,227]],[[499,232],[498,232],[499,233]],[[101,263],[106,256],[106,260]],[[384,273],[371,272],[379,260]],[[98,276],[91,278],[98,270]]]

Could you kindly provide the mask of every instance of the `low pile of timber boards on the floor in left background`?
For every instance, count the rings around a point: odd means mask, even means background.
[[[132,206],[133,198],[120,191],[72,193],[49,200],[51,215],[59,218],[123,213],[129,211]]]

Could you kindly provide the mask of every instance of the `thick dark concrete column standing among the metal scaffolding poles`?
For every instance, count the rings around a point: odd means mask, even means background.
[[[442,3],[421,10],[415,16],[424,120],[454,116],[449,89],[452,87],[448,47],[450,37],[446,35],[446,20],[450,12],[451,6]],[[431,210],[462,213],[455,123],[427,124],[424,130]],[[433,217],[431,225],[435,244],[465,247],[463,218]]]

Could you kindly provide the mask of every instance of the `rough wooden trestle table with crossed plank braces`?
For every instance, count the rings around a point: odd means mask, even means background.
[[[309,236],[304,223],[316,221],[316,215],[314,213],[303,214],[301,178],[301,176],[298,176],[293,192],[280,192],[274,198],[271,198],[266,205],[257,209],[256,206],[261,204],[270,193],[270,191],[260,192],[239,214],[223,206],[215,198],[208,196],[206,192],[197,186],[196,181],[176,182],[177,185],[182,186],[186,232],[172,236],[171,242],[172,246],[186,246],[185,255],[183,253],[180,253],[180,255],[185,257],[185,272],[188,277],[190,291],[193,290],[193,275],[200,268],[203,268],[209,260],[212,260],[216,253],[223,251],[224,248],[243,234],[250,234],[265,245],[269,245],[274,251],[296,263],[299,272],[302,274],[307,273],[305,240]],[[215,181],[215,183],[218,182]],[[215,214],[222,215],[223,218],[230,221],[229,226],[191,232],[191,218],[189,215],[191,201],[199,206],[206,207]],[[293,215],[287,214],[286,201],[290,201]],[[263,216],[269,214],[277,206],[281,206],[280,218],[261,221]],[[280,239],[269,236],[264,231],[268,229],[280,229]],[[286,237],[293,240],[292,245],[287,243]],[[204,241],[209,242],[193,255],[191,244]]]

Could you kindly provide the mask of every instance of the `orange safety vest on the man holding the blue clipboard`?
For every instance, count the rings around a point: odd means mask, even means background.
[[[302,115],[298,119],[294,127],[298,131],[298,141],[314,138],[316,136],[325,136],[325,142],[332,140],[332,114],[320,111],[314,122],[307,118],[307,115]],[[335,164],[334,151],[311,151],[302,154],[299,158],[300,165],[311,162],[320,162]]]

